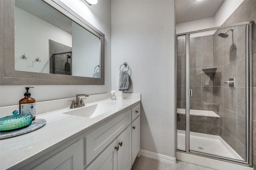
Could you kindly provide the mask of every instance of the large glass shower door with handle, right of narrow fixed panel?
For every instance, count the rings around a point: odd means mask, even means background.
[[[246,160],[246,26],[190,34],[190,152]]]

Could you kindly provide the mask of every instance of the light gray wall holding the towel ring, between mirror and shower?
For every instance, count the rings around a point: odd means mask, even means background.
[[[112,90],[127,62],[127,92],[142,97],[141,149],[174,158],[174,0],[112,0],[111,11]]]

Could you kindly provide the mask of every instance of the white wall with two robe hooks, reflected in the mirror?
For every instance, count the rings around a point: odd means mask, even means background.
[[[72,47],[72,35],[15,7],[15,70],[50,73],[49,39]],[[26,60],[21,58],[24,55]],[[36,62],[39,57],[41,62]]]

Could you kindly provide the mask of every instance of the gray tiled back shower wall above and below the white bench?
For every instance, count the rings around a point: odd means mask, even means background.
[[[190,109],[213,111],[213,73],[204,73],[202,69],[213,67],[213,36],[190,39]],[[177,59],[177,108],[186,105],[186,42],[178,40]],[[210,82],[205,85],[205,80]],[[177,115],[178,130],[186,130],[185,115]],[[190,116],[190,130],[206,134],[219,135],[220,119],[205,116]]]

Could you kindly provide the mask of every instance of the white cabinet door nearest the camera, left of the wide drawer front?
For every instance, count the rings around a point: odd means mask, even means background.
[[[83,155],[83,140],[79,140],[42,162],[33,170],[82,170],[84,167]]]

